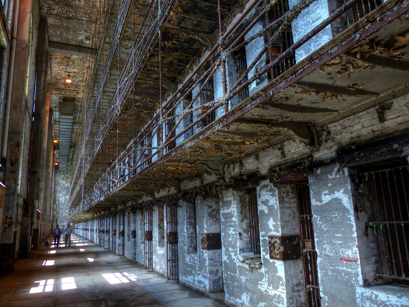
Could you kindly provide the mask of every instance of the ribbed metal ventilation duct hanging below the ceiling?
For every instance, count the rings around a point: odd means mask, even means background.
[[[70,154],[70,143],[72,126],[74,122],[75,101],[62,100],[60,103],[60,128],[59,128],[59,157],[58,168],[60,171],[67,170],[68,156]]]

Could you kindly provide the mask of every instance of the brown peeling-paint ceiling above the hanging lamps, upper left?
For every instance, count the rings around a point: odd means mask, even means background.
[[[94,33],[99,29],[96,23],[98,10],[104,3],[104,0],[40,0],[41,18],[46,19],[48,25],[48,41],[93,49],[96,45]],[[75,100],[71,151],[89,67],[90,59],[85,56],[66,55],[63,51],[55,50],[49,52],[50,108],[54,110],[54,135],[57,138],[60,101]],[[65,82],[68,73],[71,75],[71,84]]]

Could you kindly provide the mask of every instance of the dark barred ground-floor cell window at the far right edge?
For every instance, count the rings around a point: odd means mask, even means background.
[[[372,226],[380,264],[378,277],[409,285],[409,167],[368,174]]]

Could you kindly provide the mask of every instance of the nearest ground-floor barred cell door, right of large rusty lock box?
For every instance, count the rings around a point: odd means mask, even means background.
[[[302,242],[306,307],[321,307],[317,251],[315,250],[314,228],[312,225],[310,187],[307,182],[299,183],[296,185],[296,190],[300,237]]]

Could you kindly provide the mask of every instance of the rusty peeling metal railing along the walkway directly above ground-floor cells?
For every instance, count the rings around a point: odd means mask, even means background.
[[[133,142],[130,142],[128,147],[118,156],[115,163],[113,163],[106,170],[106,172],[101,176],[99,181],[92,187],[90,192],[84,195],[81,199],[78,198],[76,199],[77,203],[81,203],[82,205],[76,206],[77,208],[81,207],[81,209],[76,210],[75,213],[81,213],[83,210],[90,208],[92,205],[94,205],[104,197],[112,195],[113,193],[115,193],[115,191],[119,190],[121,187],[126,185],[130,180],[133,180],[135,176],[138,176],[138,174],[141,173],[146,167],[148,167],[155,161],[160,160],[165,154],[167,153],[171,154],[171,152],[173,152],[174,150],[173,146],[171,145],[174,144],[175,140],[180,138],[184,133],[192,129],[194,126],[202,124],[205,120],[209,118],[209,115],[213,114],[216,110],[219,110],[219,108],[222,108],[225,113],[228,112],[229,101],[232,98],[236,97],[237,95],[240,95],[240,93],[243,93],[243,90],[247,89],[248,86],[252,84],[252,82],[265,76],[265,74],[267,74],[274,67],[276,67],[275,65],[281,63],[281,61],[283,61],[284,59],[288,59],[289,57],[291,57],[294,53],[294,50],[301,47],[304,43],[313,38],[315,35],[321,32],[321,30],[325,29],[335,20],[344,16],[345,14],[350,14],[351,12],[353,12],[354,8],[356,8],[357,5],[360,5],[360,3],[362,3],[362,0],[350,0],[346,2],[344,5],[335,10],[333,14],[331,14],[328,18],[326,18],[319,25],[313,28],[310,32],[306,33],[305,36],[303,36],[297,42],[292,43],[290,47],[288,47],[286,50],[283,50],[281,54],[279,54],[278,56],[274,57],[274,59],[272,59],[270,63],[265,65],[265,67],[262,68],[261,70],[258,70],[258,72],[254,73],[254,75],[251,78],[247,78],[249,72],[255,67],[256,63],[258,63],[258,61],[261,59],[261,56],[263,56],[263,54],[265,54],[265,52],[269,50],[269,48],[273,46],[274,43],[276,43],[280,35],[287,31],[288,25],[291,23],[291,21],[294,20],[294,18],[296,18],[301,13],[301,11],[303,11],[303,9],[308,7],[311,3],[315,2],[315,0],[305,0],[299,2],[291,9],[286,10],[285,13],[282,14],[281,16],[277,16],[277,18],[274,21],[272,21],[272,23],[266,25],[261,31],[243,41],[245,35],[252,29],[252,27],[254,27],[254,25],[258,21],[265,17],[265,15],[270,11],[270,9],[274,7],[274,5],[278,2],[278,0],[273,0],[269,2],[269,4],[266,7],[264,7],[259,14],[254,14],[251,17],[249,17],[248,26],[244,27],[244,29],[239,30],[238,25],[240,25],[242,20],[248,17],[252,9],[256,7],[256,5],[258,5],[258,2],[259,2],[258,0],[253,0],[245,9],[245,11],[243,11],[242,15],[240,15],[240,17],[236,20],[234,25],[231,25],[231,27],[229,27],[227,32],[225,32],[224,34],[222,32],[220,33],[220,39],[218,43],[210,50],[205,59],[203,59],[199,63],[199,65],[189,75],[189,77],[187,77],[182,86],[180,86],[180,88],[178,88],[178,90],[166,102],[162,104],[162,106],[157,110],[151,121],[148,122],[148,124],[138,133],[138,135],[135,136]],[[374,6],[372,6],[371,8],[373,7]],[[358,17],[360,17],[360,15]],[[222,20],[219,19],[220,24],[221,22]],[[148,29],[151,28],[148,27],[147,30]],[[270,30],[272,31],[272,34],[269,41],[265,44],[264,48],[260,50],[260,53],[255,57],[252,63],[250,63],[247,66],[247,69],[238,78],[236,84],[232,86],[229,90],[226,89],[222,97],[214,99],[213,101],[207,102],[205,104],[199,104],[198,106],[194,106],[194,102],[199,98],[200,93],[206,90],[205,87],[207,83],[213,77],[214,73],[218,68],[221,68],[222,71],[223,90],[225,90],[226,82],[224,68],[225,58],[227,56],[231,56],[241,47],[245,46],[246,44],[250,43],[256,38],[263,36],[266,32]],[[229,45],[225,45],[225,41],[227,40],[227,38],[233,35],[234,37],[237,37],[235,41],[233,43],[230,43]],[[146,42],[147,41],[148,38],[146,38]],[[140,45],[140,43],[138,43],[137,41],[135,41],[135,44],[136,45],[139,44],[138,46],[143,45],[143,44]],[[135,47],[135,50],[138,49]],[[220,51],[220,55],[214,56],[217,50]],[[139,52],[139,54],[141,54],[141,52]],[[159,59],[160,58],[161,55],[159,55]],[[204,67],[208,67],[208,69],[204,71],[203,69]],[[126,72],[126,74],[128,74],[128,72]],[[135,72],[135,75],[129,74],[120,79],[121,84],[123,85],[122,90],[125,90],[126,82],[133,80],[136,74],[137,72]],[[193,88],[199,89],[196,95],[193,95],[192,93]],[[130,86],[128,90],[129,89]],[[119,92],[117,95],[119,95]],[[184,108],[183,111],[176,113],[175,108],[188,95],[192,96],[191,102],[188,104],[186,108]],[[254,95],[256,94],[251,95],[245,100],[251,101]],[[121,94],[118,97],[121,97],[122,99],[125,96],[122,96]],[[121,103],[113,105],[115,105],[115,108],[112,108],[111,113],[113,114],[112,116],[116,116],[117,112],[119,112],[120,110]],[[193,112],[196,111],[200,112],[198,118],[196,120],[193,120],[193,122],[189,124],[187,127],[176,133],[176,128],[180,125],[182,120],[187,115],[192,114]],[[166,133],[164,133],[162,127],[164,126],[164,124],[170,121],[173,121],[174,124],[172,125],[171,129],[165,131]],[[108,120],[107,125],[109,122],[110,121]],[[209,122],[209,124],[211,124],[211,122]],[[159,144],[157,144],[157,146],[152,146],[151,145],[152,140],[155,137],[155,135],[158,138],[160,138],[158,142]],[[101,137],[98,137],[97,139],[102,140],[103,136],[101,135]],[[146,144],[148,144],[148,147],[146,147]],[[92,157],[93,153],[90,154],[89,159],[92,160]]]

